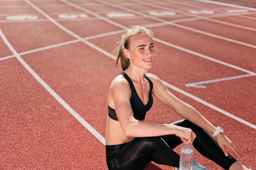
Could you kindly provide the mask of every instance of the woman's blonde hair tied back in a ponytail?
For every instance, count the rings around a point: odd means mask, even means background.
[[[128,66],[130,65],[130,60],[125,56],[124,49],[130,48],[130,37],[139,34],[148,34],[151,36],[151,38],[153,37],[153,32],[150,29],[146,29],[143,26],[132,26],[131,29],[129,29],[122,35],[119,46],[117,46],[117,48],[113,52],[117,56],[116,67],[120,60],[123,71],[126,70],[126,68],[128,68]]]

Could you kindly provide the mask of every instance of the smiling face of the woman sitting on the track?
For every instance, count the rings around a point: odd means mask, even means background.
[[[127,53],[131,56],[130,64],[144,69],[151,68],[155,50],[150,35],[139,34],[130,37],[130,49]]]

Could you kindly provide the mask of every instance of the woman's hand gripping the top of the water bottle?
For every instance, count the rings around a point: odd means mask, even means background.
[[[176,136],[180,137],[185,144],[192,144],[196,137],[195,133],[190,128],[184,128],[181,126],[178,126]]]

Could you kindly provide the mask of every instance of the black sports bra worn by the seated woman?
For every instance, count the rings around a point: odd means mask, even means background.
[[[130,98],[130,104],[131,104],[133,115],[134,115],[135,119],[144,120],[145,116],[146,116],[146,112],[153,105],[153,97],[152,97],[153,83],[151,82],[151,80],[146,75],[144,75],[144,77],[148,80],[149,86],[150,86],[148,103],[146,105],[144,105],[143,102],[141,101],[141,99],[139,98],[130,77],[124,72],[120,73],[120,75],[123,75],[126,78],[126,80],[128,81],[128,83],[130,84],[130,88],[132,90],[132,95],[131,95],[131,98]],[[108,106],[108,116],[111,119],[114,119],[114,120],[118,121],[115,109],[112,109],[110,106]]]

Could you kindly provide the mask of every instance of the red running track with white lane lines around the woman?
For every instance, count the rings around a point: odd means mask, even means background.
[[[256,168],[256,9],[238,1],[0,0],[0,169],[107,170],[108,87],[121,71],[111,53],[136,24],[155,33],[150,72]],[[157,100],[146,117],[179,119]]]

